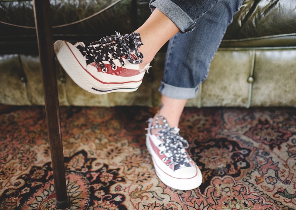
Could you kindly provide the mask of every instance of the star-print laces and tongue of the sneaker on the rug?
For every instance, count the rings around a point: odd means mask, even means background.
[[[161,118],[163,121],[163,125],[160,125],[158,119]],[[163,116],[155,117],[155,126],[150,127],[150,129],[163,128],[158,131],[159,134],[157,138],[163,139],[163,143],[158,145],[159,147],[164,146],[165,150],[160,151],[160,154],[165,153],[167,155],[163,161],[171,160],[167,165],[176,164],[180,162],[188,162],[191,159],[188,158],[188,154],[186,151],[182,151],[182,149],[186,149],[189,147],[187,140],[180,136],[180,129],[177,127],[170,127],[168,125],[167,120]],[[185,146],[184,146],[185,144]]]

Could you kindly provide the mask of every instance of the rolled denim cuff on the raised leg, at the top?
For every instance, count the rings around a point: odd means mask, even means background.
[[[181,33],[191,32],[195,28],[195,22],[177,4],[170,0],[151,0],[151,11],[155,8],[163,12],[180,29]]]

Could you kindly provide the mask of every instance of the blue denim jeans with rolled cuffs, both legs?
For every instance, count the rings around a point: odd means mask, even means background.
[[[152,0],[181,33],[170,39],[159,91],[169,98],[195,98],[242,0]],[[168,6],[170,5],[170,6]],[[200,5],[200,6],[199,6]],[[195,18],[195,19],[193,19]],[[187,33],[190,32],[190,33]]]

